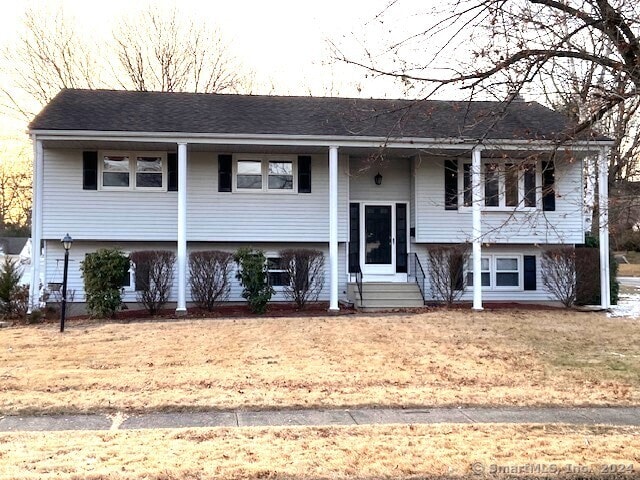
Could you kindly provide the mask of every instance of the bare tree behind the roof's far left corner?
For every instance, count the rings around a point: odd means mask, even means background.
[[[93,49],[61,9],[28,8],[23,27],[18,41],[2,52],[11,80],[0,87],[6,108],[30,120],[61,89],[100,84]]]

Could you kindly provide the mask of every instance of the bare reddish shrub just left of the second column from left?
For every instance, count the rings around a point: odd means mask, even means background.
[[[136,298],[155,315],[169,300],[176,255],[169,250],[147,250],[133,252],[130,259],[135,269]]]

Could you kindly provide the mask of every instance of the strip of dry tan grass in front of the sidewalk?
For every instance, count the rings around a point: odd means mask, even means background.
[[[640,428],[379,425],[12,433],[0,435],[0,452],[0,478],[12,480],[614,480],[637,478]]]

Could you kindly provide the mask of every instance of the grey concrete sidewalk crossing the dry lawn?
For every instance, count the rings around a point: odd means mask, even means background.
[[[436,423],[564,423],[640,426],[640,407],[354,408],[142,414],[1,416],[0,432]]]

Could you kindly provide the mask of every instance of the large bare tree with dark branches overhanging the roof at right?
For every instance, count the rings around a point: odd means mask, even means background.
[[[384,24],[401,4],[391,1],[375,21]],[[470,97],[501,100],[551,85],[558,66],[569,61],[581,72],[596,66],[583,120],[566,132],[568,137],[638,96],[640,6],[635,0],[450,0],[434,8],[422,12],[424,22],[415,31],[394,39],[383,52],[365,50],[354,57],[336,48],[334,54],[373,75],[422,85],[423,96],[453,84]],[[434,39],[443,43],[425,51]],[[463,49],[468,55],[461,59]],[[415,50],[424,52],[418,60],[408,56]],[[443,68],[436,70],[437,64]]]

